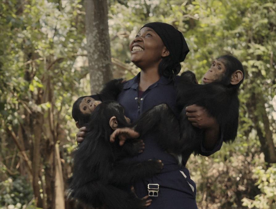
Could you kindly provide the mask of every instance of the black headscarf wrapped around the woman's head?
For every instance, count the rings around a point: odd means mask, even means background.
[[[190,50],[183,34],[179,30],[170,24],[160,22],[147,23],[142,28],[144,27],[152,28],[160,36],[175,62],[184,61]]]

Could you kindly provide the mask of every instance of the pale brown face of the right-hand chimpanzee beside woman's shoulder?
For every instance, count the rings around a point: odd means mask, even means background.
[[[222,60],[215,59],[212,62],[210,69],[205,73],[202,81],[204,84],[212,83],[215,80],[219,81],[225,75],[225,71],[226,71],[226,68]]]

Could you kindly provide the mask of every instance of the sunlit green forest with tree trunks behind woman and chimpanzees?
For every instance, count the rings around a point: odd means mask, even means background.
[[[152,21],[183,32],[190,52],[182,71],[198,80],[222,54],[246,70],[237,139],[188,161],[198,207],[276,208],[273,0],[2,0],[1,208],[84,208],[65,195],[77,147],[72,103],[139,72],[128,45]]]

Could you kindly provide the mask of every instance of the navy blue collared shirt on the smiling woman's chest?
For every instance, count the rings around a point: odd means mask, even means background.
[[[140,73],[133,79],[124,83],[123,90],[118,96],[117,101],[125,108],[126,117],[129,117],[131,122],[135,122],[142,113],[160,104],[167,104],[175,115],[178,116],[181,112],[181,109],[178,109],[176,106],[175,83],[177,85],[178,77],[179,76],[176,76],[174,82],[172,79],[161,76],[156,83],[149,86],[147,90],[143,92],[141,98],[138,98]],[[138,99],[140,99],[139,102]],[[220,140],[217,141],[212,150],[205,149],[203,143],[201,143],[200,154],[203,156],[210,156],[220,150],[223,142],[222,135],[223,134],[221,134]]]

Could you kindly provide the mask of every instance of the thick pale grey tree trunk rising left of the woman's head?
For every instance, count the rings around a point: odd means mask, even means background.
[[[111,71],[108,6],[106,0],[85,0],[85,33],[91,94],[113,78]]]

